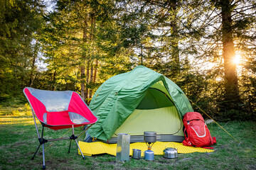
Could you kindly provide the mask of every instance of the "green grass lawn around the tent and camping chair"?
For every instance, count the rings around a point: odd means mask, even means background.
[[[40,130],[41,125],[38,123]],[[78,155],[78,147],[73,142],[68,154],[69,140],[46,143],[46,169],[256,169],[256,123],[220,123],[242,144],[233,140],[215,123],[208,125],[211,135],[217,139],[215,152],[178,154],[178,159],[164,159],[155,156],[154,161],[130,159],[116,162],[108,154],[86,157]],[[68,130],[45,128],[45,139],[61,137]],[[78,134],[82,130],[76,128]],[[68,132],[65,137],[71,135]],[[0,169],[41,169],[42,149],[31,160],[38,147],[38,139],[29,106],[3,108],[0,106]],[[83,140],[82,135],[78,140]],[[51,145],[53,144],[53,145]],[[51,145],[50,147],[48,147]]]

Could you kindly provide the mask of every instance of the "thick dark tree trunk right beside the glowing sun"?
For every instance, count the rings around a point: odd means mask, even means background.
[[[238,94],[238,77],[235,72],[236,64],[233,62],[235,57],[235,47],[233,42],[232,28],[232,7],[230,0],[223,0],[221,3],[222,34],[223,34],[223,58],[225,72],[225,103],[230,109],[238,110],[240,97]]]

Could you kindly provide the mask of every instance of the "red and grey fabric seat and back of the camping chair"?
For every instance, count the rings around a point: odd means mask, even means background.
[[[60,126],[97,122],[90,108],[74,91],[45,91],[26,87],[23,92],[41,123]]]

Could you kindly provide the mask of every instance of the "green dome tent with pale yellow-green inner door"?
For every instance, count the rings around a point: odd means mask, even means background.
[[[143,142],[144,131],[156,132],[158,141],[181,142],[183,115],[193,111],[173,81],[144,66],[105,81],[89,107],[98,121],[88,133],[108,142],[116,142],[118,133]]]

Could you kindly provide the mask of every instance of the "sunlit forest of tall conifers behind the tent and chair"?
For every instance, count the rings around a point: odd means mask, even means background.
[[[0,22],[3,106],[26,103],[26,86],[90,103],[144,65],[218,120],[256,118],[255,1],[3,0]]]

